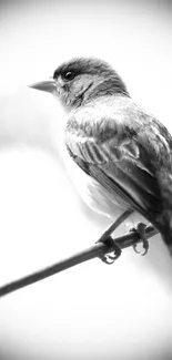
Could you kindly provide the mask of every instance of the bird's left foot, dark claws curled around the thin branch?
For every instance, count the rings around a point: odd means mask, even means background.
[[[112,239],[111,236],[107,237],[102,236],[95,244],[98,243],[103,243],[109,245],[110,248],[113,248],[112,250],[112,255],[105,254],[105,255],[99,255],[99,258],[108,264],[108,265],[112,265],[121,255],[122,250],[119,247],[119,245]]]

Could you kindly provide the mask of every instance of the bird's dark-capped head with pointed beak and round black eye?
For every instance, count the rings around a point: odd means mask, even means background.
[[[128,95],[125,84],[104,61],[79,58],[60,65],[49,81],[30,88],[54,94],[67,110],[72,110],[102,95]]]

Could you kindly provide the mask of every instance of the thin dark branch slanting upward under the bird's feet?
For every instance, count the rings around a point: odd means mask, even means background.
[[[152,225],[146,226],[146,228],[145,228],[146,238],[150,238],[150,237],[154,236],[155,234],[158,234],[158,230]],[[135,232],[131,232],[129,234],[125,234],[123,236],[120,236],[120,237],[113,239],[113,241],[117,245],[119,245],[119,247],[121,249],[124,249],[127,247],[139,244],[142,240]],[[114,248],[112,246],[107,245],[104,243],[98,243],[94,246],[89,247],[88,249],[84,249],[83,251],[80,251],[69,258],[60,260],[59,263],[53,264],[44,269],[32,272],[30,275],[27,275],[23,278],[17,279],[14,281],[11,281],[11,282],[0,287],[0,297],[8,295],[10,292],[13,292],[16,290],[19,290],[28,285],[33,284],[33,282],[45,279],[49,276],[52,276],[57,272],[69,269],[72,266],[91,260],[95,257],[101,257],[101,256],[109,254],[111,251],[114,251]]]

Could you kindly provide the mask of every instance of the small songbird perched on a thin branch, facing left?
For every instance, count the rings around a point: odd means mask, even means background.
[[[172,255],[172,136],[168,128],[132,100],[113,66],[97,58],[67,61],[52,78],[30,86],[53,94],[68,113],[63,141],[69,172],[87,204],[115,218],[111,229],[138,214],[158,229]],[[135,230],[146,253],[143,225],[139,223]],[[104,233],[101,240],[110,241],[109,235]],[[119,246],[114,248],[111,259],[121,254]]]

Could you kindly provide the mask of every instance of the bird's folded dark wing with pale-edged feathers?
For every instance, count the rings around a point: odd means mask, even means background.
[[[133,209],[149,214],[150,220],[159,212],[161,195],[155,169],[148,150],[136,140],[128,138],[119,146],[113,134],[100,143],[67,132],[65,143],[74,162],[112,196],[118,194]]]

